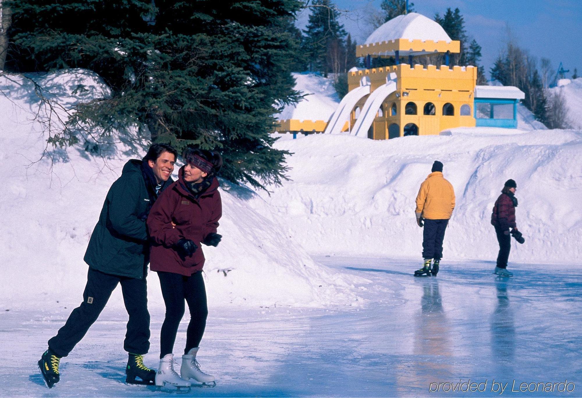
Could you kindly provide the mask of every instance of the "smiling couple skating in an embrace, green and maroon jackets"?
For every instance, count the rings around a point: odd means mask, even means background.
[[[177,155],[169,145],[153,144],[143,160],[127,162],[109,189],[84,257],[89,270],[83,303],[48,340],[48,350],[38,361],[49,388],[59,381],[61,358],[83,339],[118,284],[129,314],[123,344],[129,356],[126,382],[214,385],[214,377],[200,370],[196,354],[208,315],[200,246],[217,246],[221,241],[217,227],[222,205],[215,174],[222,159],[215,152],[188,148],[178,181],[173,182],[170,176]],[[145,282],[148,262],[158,273],[166,306],[158,371],[143,362],[150,349]],[[173,346],[184,315],[184,300],[190,324],[179,375],[173,368]]]

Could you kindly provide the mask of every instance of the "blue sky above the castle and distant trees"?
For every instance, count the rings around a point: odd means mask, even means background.
[[[482,47],[481,63],[489,71],[509,37],[538,58],[549,58],[554,70],[561,62],[582,74],[582,0],[416,0],[414,10],[433,19],[446,8],[459,8],[467,34]],[[342,23],[358,42],[371,33],[366,22],[379,9],[380,0],[335,0]],[[307,13],[298,16],[297,26],[307,23]],[[489,77],[489,73],[487,73]]]

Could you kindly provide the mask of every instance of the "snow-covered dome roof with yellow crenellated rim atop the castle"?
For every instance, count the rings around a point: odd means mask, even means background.
[[[399,15],[376,29],[356,56],[425,55],[435,52],[459,52],[460,42],[451,40],[437,22],[416,12]]]

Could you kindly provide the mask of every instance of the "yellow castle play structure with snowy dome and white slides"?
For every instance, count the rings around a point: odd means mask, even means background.
[[[353,68],[349,92],[329,120],[279,120],[278,132],[349,132],[385,140],[439,134],[454,127],[517,127],[516,87],[476,86],[477,67],[449,66],[460,51],[435,21],[418,13],[395,17],[356,48],[370,63],[372,56],[393,57],[396,65]],[[414,58],[443,54],[445,65],[414,65]],[[407,63],[403,62],[407,61]]]

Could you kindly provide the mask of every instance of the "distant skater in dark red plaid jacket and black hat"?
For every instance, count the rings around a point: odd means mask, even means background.
[[[515,197],[516,189],[516,182],[512,179],[507,180],[501,191],[501,195],[495,201],[491,214],[491,224],[495,227],[497,241],[499,242],[499,254],[493,273],[501,276],[513,276],[513,273],[507,270],[507,266],[509,251],[511,250],[509,229],[512,228],[517,231],[515,222],[515,208],[517,207],[517,198]]]

